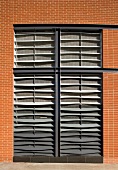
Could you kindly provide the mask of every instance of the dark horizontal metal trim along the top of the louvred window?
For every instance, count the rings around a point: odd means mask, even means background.
[[[118,25],[110,24],[14,24],[14,30],[37,29],[118,29]]]

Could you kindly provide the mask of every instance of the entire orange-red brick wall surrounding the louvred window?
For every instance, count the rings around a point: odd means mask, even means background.
[[[0,161],[13,161],[13,24],[118,24],[117,0],[0,0]],[[103,32],[103,66],[118,66],[118,31]],[[118,163],[117,74],[103,78],[104,162]]]

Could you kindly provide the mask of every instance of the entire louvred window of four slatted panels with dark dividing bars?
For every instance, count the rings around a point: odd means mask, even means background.
[[[101,31],[24,27],[14,41],[14,156],[102,156]]]

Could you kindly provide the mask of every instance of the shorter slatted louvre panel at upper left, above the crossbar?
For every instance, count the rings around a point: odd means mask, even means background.
[[[53,31],[16,31],[15,67],[37,68],[54,66]]]

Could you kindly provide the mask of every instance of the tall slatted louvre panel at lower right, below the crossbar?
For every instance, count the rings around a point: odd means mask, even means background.
[[[101,155],[101,75],[61,75],[60,155]]]

